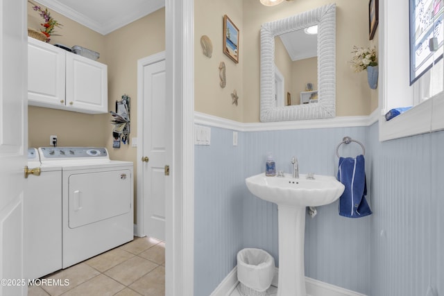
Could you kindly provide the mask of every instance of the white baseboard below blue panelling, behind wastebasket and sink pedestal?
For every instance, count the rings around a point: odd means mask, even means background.
[[[278,286],[278,272],[279,269],[276,268],[275,277],[271,282],[276,287]],[[237,280],[237,266],[235,266],[210,296],[230,296],[237,284],[239,281]],[[307,296],[366,296],[310,277],[305,277],[305,287],[307,288]]]

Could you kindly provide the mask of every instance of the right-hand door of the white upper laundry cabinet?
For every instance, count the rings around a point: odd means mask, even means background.
[[[108,112],[107,66],[74,53],[67,53],[67,110]]]

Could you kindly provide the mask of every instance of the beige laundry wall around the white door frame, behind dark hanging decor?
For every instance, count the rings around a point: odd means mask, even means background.
[[[137,137],[137,60],[165,50],[165,9],[153,12],[105,36],[108,63],[108,108],[114,110],[115,102],[123,94],[131,98],[131,133]],[[112,148],[111,125],[106,134],[106,146],[114,159],[136,160],[137,148],[121,145]],[[135,161],[135,169],[137,162]]]

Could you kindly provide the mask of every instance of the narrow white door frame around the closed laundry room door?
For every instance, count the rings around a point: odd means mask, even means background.
[[[142,157],[145,155],[144,153],[144,116],[142,111],[144,110],[144,67],[149,64],[155,64],[156,62],[160,62],[161,60],[165,60],[165,51],[160,53],[155,53],[146,58],[142,58],[137,60],[137,110],[139,114],[137,114],[137,221],[136,221],[136,229],[135,234],[137,236],[143,236],[145,234],[144,229],[144,166],[142,163]]]

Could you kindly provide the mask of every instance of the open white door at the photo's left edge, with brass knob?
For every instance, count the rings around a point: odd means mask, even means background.
[[[7,24],[13,24],[7,26]],[[0,0],[0,295],[26,295],[26,1]]]

